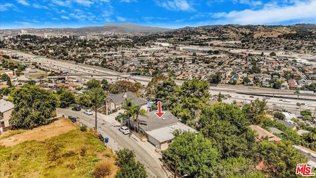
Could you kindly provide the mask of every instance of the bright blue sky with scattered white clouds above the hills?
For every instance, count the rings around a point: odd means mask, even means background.
[[[316,23],[316,0],[0,0],[0,29]]]

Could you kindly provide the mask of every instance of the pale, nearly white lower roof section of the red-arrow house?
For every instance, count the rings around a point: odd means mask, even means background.
[[[197,133],[197,130],[178,122],[173,125],[169,125],[166,127],[148,131],[146,132],[146,134],[154,137],[161,143],[164,141],[172,140],[174,138],[173,132],[175,130]]]

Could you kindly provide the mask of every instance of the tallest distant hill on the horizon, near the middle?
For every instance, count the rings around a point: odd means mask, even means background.
[[[118,27],[121,30],[125,30],[126,32],[164,32],[172,29],[160,28],[160,27],[150,27],[150,26],[142,26],[136,25],[132,23],[107,23],[104,25],[105,27]]]

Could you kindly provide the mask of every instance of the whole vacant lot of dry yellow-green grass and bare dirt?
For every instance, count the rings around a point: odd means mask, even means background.
[[[100,165],[114,178],[118,170],[112,151],[68,119],[7,132],[0,144],[0,178],[93,178]]]

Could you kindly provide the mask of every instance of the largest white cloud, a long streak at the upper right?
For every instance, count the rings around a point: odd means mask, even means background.
[[[258,10],[214,13],[212,18],[221,18],[220,24],[275,24],[292,20],[312,20],[316,22],[316,1],[295,1],[292,5],[265,4]]]

